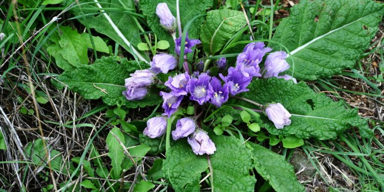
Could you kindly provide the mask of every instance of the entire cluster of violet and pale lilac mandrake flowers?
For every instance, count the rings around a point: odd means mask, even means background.
[[[158,4],[156,14],[160,18],[160,24],[168,30],[169,33],[175,33],[175,17],[172,15],[165,3]],[[180,55],[181,36],[175,39],[175,53]],[[189,39],[188,34],[184,43],[184,55],[192,53],[193,48],[199,45],[199,39]],[[162,108],[164,113],[160,117],[153,117],[147,121],[147,127],[143,134],[150,138],[161,137],[167,129],[167,119],[174,118],[175,114],[183,99],[188,98],[190,102],[204,105],[205,103],[213,104],[220,107],[230,96],[249,91],[248,85],[254,78],[284,78],[285,80],[296,79],[289,75],[279,75],[289,69],[289,64],[285,60],[287,54],[283,51],[270,53],[266,60],[264,69],[261,69],[264,56],[271,52],[272,49],[265,47],[263,42],[251,42],[246,45],[243,52],[236,59],[236,65],[227,68],[227,60],[225,57],[215,62],[216,68],[219,69],[219,75],[213,76],[207,71],[209,62],[198,62],[194,66],[194,71],[190,72],[186,57],[179,58],[170,54],[157,54],[153,57],[151,68],[147,70],[138,70],[131,74],[130,78],[125,79],[126,91],[123,92],[128,100],[143,99],[147,94],[147,89],[156,81],[159,73],[167,74],[174,70],[177,66],[178,59],[184,59],[184,73],[169,76],[164,82],[167,91],[161,91],[163,98]],[[209,60],[208,60],[209,61]],[[227,70],[226,70],[227,69]],[[157,81],[157,83],[162,83]],[[264,106],[265,113],[277,129],[282,129],[285,125],[289,125],[290,114],[281,103],[271,103]],[[198,116],[183,117],[178,119],[176,129],[172,131],[174,140],[188,137],[187,142],[197,155],[213,154],[216,151],[215,143],[209,139],[205,131],[197,125]]]

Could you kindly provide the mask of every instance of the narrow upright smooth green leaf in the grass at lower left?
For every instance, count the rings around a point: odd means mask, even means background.
[[[122,171],[121,163],[124,159],[124,149],[121,146],[120,142],[124,144],[124,135],[117,128],[114,128],[110,131],[108,136],[106,137],[106,145],[108,146],[108,157],[111,158],[111,165],[113,167],[112,178],[118,179],[120,178],[120,174]]]

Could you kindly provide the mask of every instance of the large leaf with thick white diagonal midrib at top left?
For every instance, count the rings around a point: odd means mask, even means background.
[[[137,44],[141,42],[140,31],[137,24],[134,22],[135,5],[132,0],[99,0],[100,6],[104,9],[105,13],[112,19],[112,22],[121,31],[124,37],[136,48]],[[72,3],[67,0],[66,5]],[[112,27],[111,23],[106,19],[102,12],[96,11],[100,8],[93,0],[80,0],[81,10],[78,7],[71,9],[71,12],[78,16],[78,21],[89,28],[95,29],[97,32],[102,33],[122,46],[126,51],[130,52],[131,47],[128,46],[124,40],[118,35],[117,31]],[[120,9],[120,10],[119,10]],[[88,14],[88,15],[87,15]],[[87,15],[87,16],[84,16]],[[139,53],[146,59],[147,55],[143,52]]]

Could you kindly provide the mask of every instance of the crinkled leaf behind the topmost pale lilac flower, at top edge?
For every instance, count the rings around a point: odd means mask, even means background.
[[[159,3],[166,3],[170,12],[176,18],[176,1],[169,0],[140,0],[140,9],[143,11],[143,14],[146,15],[147,23],[151,27],[152,31],[155,32],[158,39],[167,40],[170,44],[169,51],[174,52],[175,42],[172,39],[172,36],[160,25],[160,19],[156,15],[156,6]],[[195,16],[200,14],[205,14],[205,10],[212,7],[213,1],[206,0],[180,0],[180,22],[181,27],[184,29],[184,26]],[[204,17],[199,17],[194,20],[190,25],[188,34],[189,38],[196,39],[200,34],[200,26],[204,21]],[[176,30],[177,31],[177,30]],[[177,34],[178,35],[178,34]]]

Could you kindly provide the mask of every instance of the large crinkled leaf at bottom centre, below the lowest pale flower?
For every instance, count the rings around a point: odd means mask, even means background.
[[[226,136],[211,136],[217,151],[210,156],[215,191],[253,191],[256,182],[249,175],[251,152],[240,140]],[[164,178],[181,191],[199,191],[201,174],[209,170],[207,156],[195,155],[189,144],[178,141],[166,153]]]

